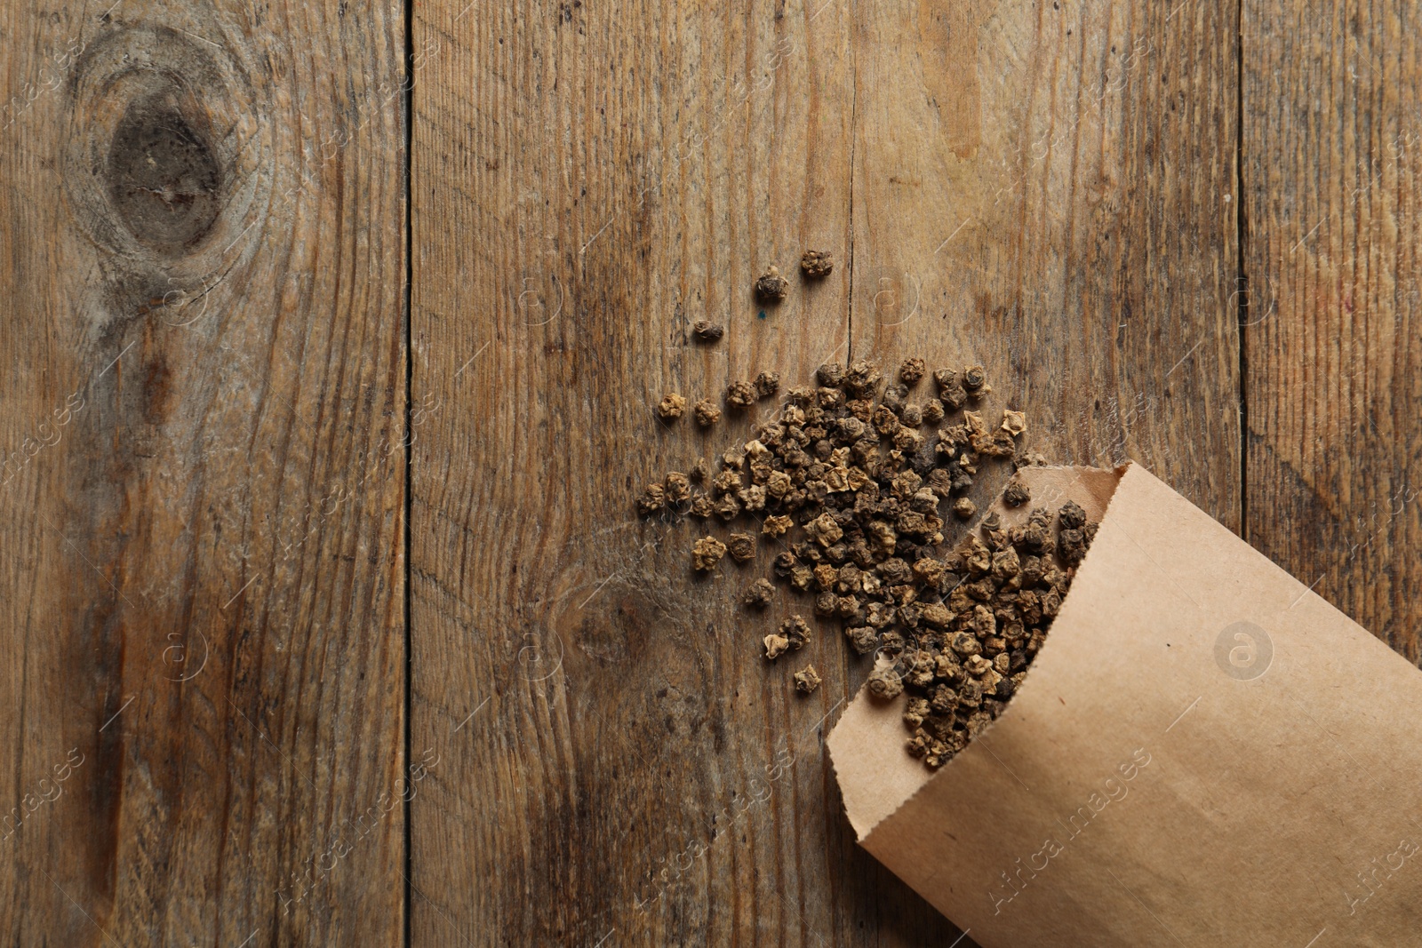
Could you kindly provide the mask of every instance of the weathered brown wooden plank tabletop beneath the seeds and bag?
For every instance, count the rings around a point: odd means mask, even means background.
[[[7,1],[0,941],[954,944],[840,814],[865,665],[798,699],[633,516],[759,370],[981,361],[1419,661],[1419,36]]]

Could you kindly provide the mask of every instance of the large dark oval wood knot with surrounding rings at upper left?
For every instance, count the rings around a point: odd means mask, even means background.
[[[267,109],[240,48],[208,34],[119,27],[74,63],[67,206],[98,250],[114,316],[206,298],[257,246],[273,176]]]

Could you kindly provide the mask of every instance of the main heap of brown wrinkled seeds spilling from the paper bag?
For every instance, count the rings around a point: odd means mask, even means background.
[[[1055,534],[1045,509],[1031,510],[1017,529],[993,513],[950,544],[940,506],[964,522],[975,516],[964,495],[984,466],[1001,465],[1005,475],[1044,462],[1018,451],[1022,412],[1005,409],[988,424],[978,411],[991,392],[981,365],[934,371],[933,391],[914,399],[924,377],[919,358],[906,360],[887,384],[867,361],[822,365],[819,385],[792,388],[772,421],[721,455],[714,476],[698,460],[648,485],[637,506],[664,519],[757,522],[761,543],[744,530],[725,542],[695,540],[693,569],[710,573],[728,553],[749,563],[762,543],[774,544],[779,583],[813,597],[816,615],[838,618],[857,654],[892,659],[870,677],[869,691],[882,699],[907,692],[909,752],[937,767],[997,718],[1021,684],[1095,524],[1074,503],[1058,512]],[[725,404],[745,411],[778,391],[779,378],[762,372],[755,382],[732,382]],[[658,414],[671,421],[685,405],[668,394]],[[712,425],[720,409],[702,399],[694,415]],[[1030,500],[1012,478],[1004,502]],[[759,578],[744,603],[764,610],[774,598],[775,587]],[[809,624],[792,615],[765,635],[765,657],[809,641]],[[813,667],[795,675],[803,694],[819,682]]]

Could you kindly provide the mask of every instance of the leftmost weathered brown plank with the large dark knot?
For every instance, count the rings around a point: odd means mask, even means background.
[[[0,938],[394,944],[401,7],[7,7]]]

